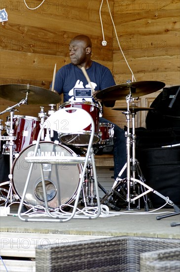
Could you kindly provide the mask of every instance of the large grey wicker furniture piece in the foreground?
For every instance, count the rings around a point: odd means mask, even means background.
[[[133,236],[37,246],[36,272],[144,272],[142,253],[179,246],[179,239]]]

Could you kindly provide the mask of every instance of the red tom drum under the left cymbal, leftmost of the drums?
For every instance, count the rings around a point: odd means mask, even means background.
[[[10,117],[7,117],[6,122],[7,134],[10,129]],[[14,153],[22,151],[25,147],[32,144],[37,139],[40,131],[40,119],[31,116],[13,116],[13,130],[14,136]],[[9,149],[3,151],[5,154],[9,154]]]

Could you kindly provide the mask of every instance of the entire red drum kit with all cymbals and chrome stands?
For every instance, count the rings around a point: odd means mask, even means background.
[[[127,209],[131,209],[130,204],[135,200],[139,200],[141,196],[146,196],[147,192],[151,189],[144,184],[144,178],[141,173],[141,169],[138,165],[138,161],[135,156],[136,149],[136,135],[135,135],[135,115],[141,110],[150,110],[146,107],[138,107],[135,105],[134,100],[139,96],[146,95],[148,93],[158,91],[165,86],[162,82],[157,81],[145,81],[145,82],[130,82],[126,84],[112,86],[110,88],[99,91],[96,95],[97,98],[102,99],[104,104],[114,104],[116,100],[126,99],[127,108],[114,108],[113,110],[122,111],[126,116],[127,132],[126,132],[126,148],[127,148],[127,162],[120,171],[116,181],[114,182],[111,190],[106,190],[99,184],[106,194],[101,199],[101,203],[105,203],[110,207],[114,207],[112,202],[112,196],[122,197],[121,188],[125,187],[125,202],[128,204]],[[2,154],[9,155],[9,181],[2,182],[0,184],[0,200],[4,200],[5,206],[7,203],[12,203],[16,199],[21,198],[24,189],[26,177],[28,175],[29,165],[25,162],[25,157],[30,156],[35,147],[35,141],[40,130],[41,124],[46,120],[47,115],[50,116],[56,110],[54,107],[60,101],[60,96],[55,91],[50,91],[40,87],[30,85],[1,85],[0,97],[3,97],[10,101],[18,102],[17,104],[6,108],[0,112],[0,115],[7,112],[10,116],[7,117],[5,127],[0,123],[0,141],[3,142]],[[44,112],[44,108],[40,106],[41,110],[38,113],[38,117],[14,115],[16,106],[22,104],[49,104],[50,110],[48,114]],[[113,126],[110,123],[99,123],[99,117],[102,113],[100,105],[93,102],[75,102],[68,101],[60,105],[59,109],[66,107],[80,107],[86,110],[94,120],[95,124],[95,136],[93,144],[101,148],[107,145],[110,139],[113,138]],[[58,110],[59,110],[58,109]],[[132,115],[132,134],[130,133],[130,116]],[[6,130],[5,135],[2,135],[2,131]],[[73,134],[58,134],[58,140],[53,141],[53,131],[47,130],[45,135],[41,137],[41,150],[43,154],[49,152],[59,152],[68,156],[74,156],[75,148],[82,148],[82,153],[85,152],[85,148],[89,142],[91,135],[91,128],[87,127],[81,132],[74,132]],[[52,169],[52,167],[54,169]],[[121,175],[124,171],[127,171],[127,178],[122,180]],[[48,200],[51,200],[52,208],[58,208],[60,203],[70,204],[74,201],[76,190],[78,187],[82,168],[80,165],[72,165],[70,171],[62,175],[60,167],[57,165],[43,164],[43,171],[45,175],[45,181],[47,186]],[[136,173],[140,181],[136,179]],[[70,179],[71,176],[71,179]],[[42,186],[40,180],[40,174],[37,169],[34,170],[31,176],[30,188],[27,192],[27,199],[25,205],[36,206],[41,205],[42,199]],[[82,188],[82,202],[80,204],[94,206],[95,198],[93,190],[93,173],[91,165],[88,165],[86,176],[84,179],[84,188]],[[9,189],[6,191],[7,195],[4,197],[2,194],[3,186],[8,184]],[[68,185],[67,185],[68,184]],[[140,184],[140,185],[139,185]],[[61,194],[60,194],[61,187]],[[148,189],[146,191],[145,187]],[[136,191],[138,188],[138,193]],[[133,190],[133,193],[132,193]],[[142,193],[140,193],[142,191]],[[135,193],[134,193],[135,192]],[[158,195],[166,200],[164,196],[158,193]],[[60,200],[59,200],[60,199]],[[146,198],[144,198],[146,203]],[[140,204],[138,204],[138,209]]]

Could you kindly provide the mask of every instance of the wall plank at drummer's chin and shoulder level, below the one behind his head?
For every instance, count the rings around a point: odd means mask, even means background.
[[[1,78],[52,81],[54,65],[57,70],[70,62],[69,57],[2,50],[0,58]],[[110,70],[112,62],[99,61]]]

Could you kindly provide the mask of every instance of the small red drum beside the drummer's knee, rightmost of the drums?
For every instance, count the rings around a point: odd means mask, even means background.
[[[110,137],[113,137],[113,125],[111,123],[100,123],[100,144],[107,144]]]

